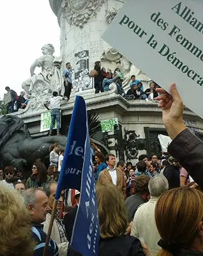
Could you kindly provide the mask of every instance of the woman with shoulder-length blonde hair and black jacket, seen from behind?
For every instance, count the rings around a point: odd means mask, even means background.
[[[114,184],[96,186],[100,222],[99,256],[144,256],[139,239],[125,236],[127,212],[121,191]]]

